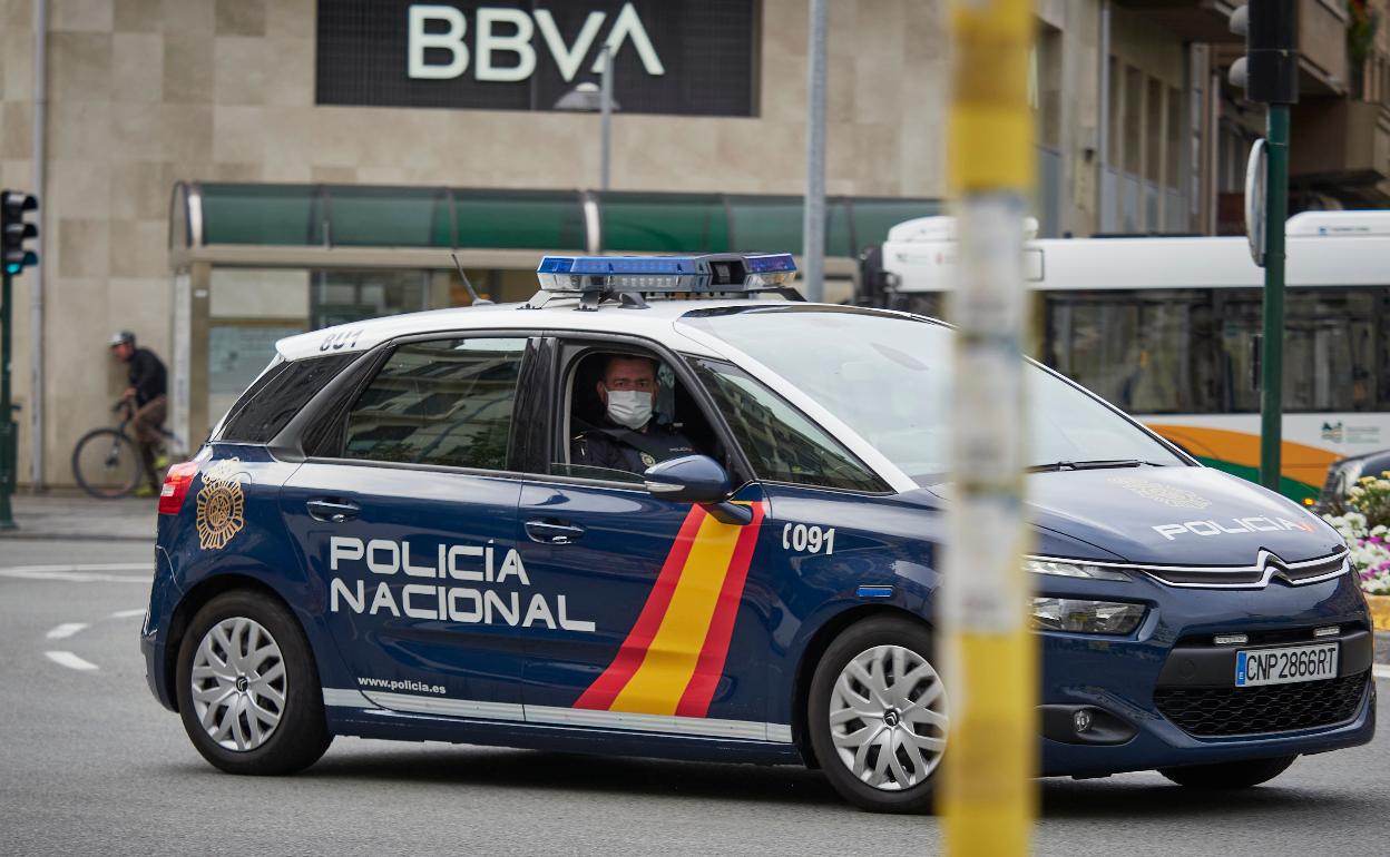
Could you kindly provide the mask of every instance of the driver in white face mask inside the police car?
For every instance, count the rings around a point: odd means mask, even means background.
[[[685,435],[652,419],[655,360],[612,354],[596,389],[603,418],[570,442],[571,464],[641,474],[659,461],[695,454]]]

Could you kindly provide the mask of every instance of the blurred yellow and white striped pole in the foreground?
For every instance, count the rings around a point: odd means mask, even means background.
[[[949,175],[959,325],[941,625],[951,728],[940,807],[948,853],[1029,851],[1036,650],[1023,553],[1023,217],[1033,182],[1031,0],[954,0]]]

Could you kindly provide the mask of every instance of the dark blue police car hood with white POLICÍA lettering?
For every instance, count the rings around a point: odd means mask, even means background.
[[[1300,563],[1344,547],[1291,500],[1205,467],[1033,474],[1029,506],[1044,531],[1138,564],[1252,565],[1261,550]]]

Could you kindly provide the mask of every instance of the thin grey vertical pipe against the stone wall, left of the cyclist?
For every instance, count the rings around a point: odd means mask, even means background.
[[[49,3],[33,6],[33,194],[47,201],[47,131],[49,131]],[[43,208],[39,210],[39,236],[33,251],[39,264],[29,271],[29,485],[43,490]],[[15,461],[15,467],[18,467]]]

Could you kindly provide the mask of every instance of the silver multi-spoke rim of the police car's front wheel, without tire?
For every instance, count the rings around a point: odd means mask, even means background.
[[[874,789],[910,789],[941,764],[947,710],[945,686],[924,657],[874,646],[845,664],[830,692],[835,754]]]

